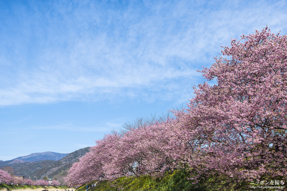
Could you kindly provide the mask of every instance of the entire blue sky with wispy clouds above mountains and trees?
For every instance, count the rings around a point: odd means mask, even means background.
[[[193,97],[220,46],[287,1],[0,0],[0,160],[94,146],[136,117]]]

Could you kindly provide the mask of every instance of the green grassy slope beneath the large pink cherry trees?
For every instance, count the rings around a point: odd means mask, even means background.
[[[254,190],[250,182],[235,182],[230,177],[210,176],[201,179],[199,184],[192,184],[189,180],[190,174],[185,170],[176,170],[167,173],[162,177],[138,176],[122,177],[115,181],[101,181],[89,191],[247,191]],[[282,179],[282,177],[281,177]],[[91,182],[89,185],[93,184]],[[86,184],[87,185],[87,184]],[[86,191],[86,185],[76,189],[76,191]],[[255,189],[256,190],[256,189]],[[264,190],[264,189],[262,189]],[[278,190],[267,188],[265,190]],[[280,190],[280,189],[279,189]],[[284,189],[282,189],[284,190]]]

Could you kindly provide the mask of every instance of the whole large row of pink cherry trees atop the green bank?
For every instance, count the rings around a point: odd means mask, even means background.
[[[287,36],[266,27],[223,48],[199,71],[216,85],[194,87],[188,109],[172,118],[97,140],[69,170],[70,183],[156,176],[182,164],[196,182],[214,174],[233,181],[287,176]]]

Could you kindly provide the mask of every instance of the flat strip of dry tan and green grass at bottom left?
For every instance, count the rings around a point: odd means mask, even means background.
[[[42,191],[42,190],[49,190],[49,191],[62,191],[65,189],[69,189],[68,187],[63,186],[35,186],[35,185],[6,185],[6,184],[0,184],[0,191],[7,191],[7,190],[25,190],[25,191]],[[75,189],[73,189],[75,190]]]

